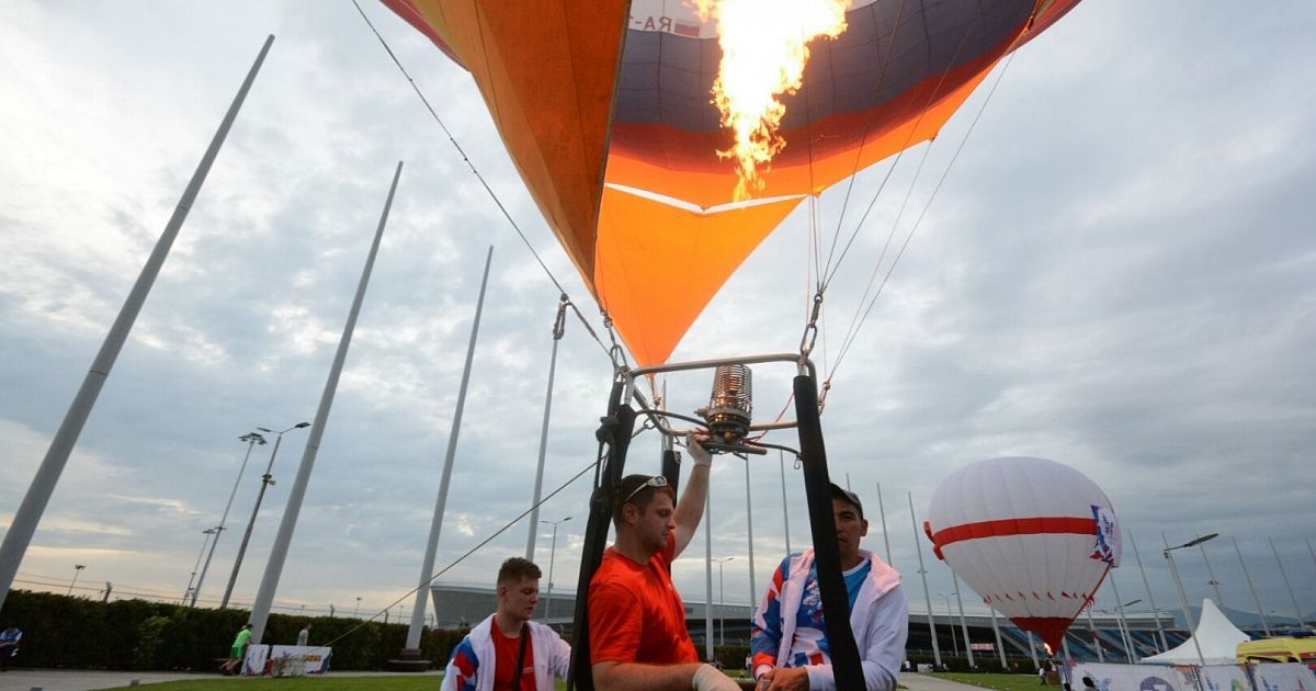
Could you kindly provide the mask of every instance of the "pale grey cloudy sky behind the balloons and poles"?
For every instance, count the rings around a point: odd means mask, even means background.
[[[363,7],[597,326],[468,75],[382,5]],[[437,566],[528,508],[555,288],[350,3],[20,0],[0,16],[0,528],[262,41],[278,37],[18,587],[63,591],[82,563],[86,595],[108,580],[116,594],[182,596],[203,530],[238,479],[238,436],[315,416],[397,161],[400,188],[276,605],[342,612],[359,598],[366,613],[415,587],[490,245],[490,299]],[[1267,612],[1294,615],[1273,538],[1300,607],[1316,612],[1316,236],[1303,220],[1316,190],[1313,34],[1316,5],[1300,0],[1265,11],[1090,1],[1005,70],[837,367],[824,413],[833,476],[848,475],[866,499],[879,550],[880,483],[915,611],[924,608],[916,549],[937,607],[951,584],[926,541],[916,542],[908,498],[921,523],[955,469],[1037,455],[1107,492],[1161,607],[1178,607],[1163,541],[1217,532],[1207,555],[1225,604],[1255,609],[1233,537]],[[819,354],[828,370],[904,191],[913,208],[926,204],[984,96],[942,132],[923,175],[920,147],[879,197],[828,296]],[[865,199],[884,171],[861,175]],[[840,196],[819,205],[824,225],[834,224]],[[805,228],[801,209],[674,359],[795,347]],[[609,372],[599,345],[570,322],[546,492],[592,462]],[[790,372],[757,374],[758,408],[775,412]],[[672,378],[672,409],[700,405],[707,387],[707,378]],[[305,440],[290,432],[280,449],[240,604],[255,595]],[[640,437],[630,467],[655,471],[657,444]],[[205,603],[222,592],[270,449],[258,446],[241,478]],[[720,457],[712,488],[712,551],[736,557],[725,595],[738,603],[750,599],[744,473],[744,462]],[[762,583],[786,549],[779,461],[755,458],[750,473]],[[794,470],[786,482],[797,549],[801,482]],[[546,520],[572,517],[558,534],[562,586],[575,582],[587,483],[542,508]],[[488,583],[525,542],[517,524],[442,579]],[[704,598],[703,553],[700,536],[676,565],[690,600]],[[1202,553],[1179,554],[1190,599],[1212,595]],[[1145,598],[1125,555],[1120,592]],[[546,529],[537,559],[549,561]],[[1111,605],[1103,590],[1098,607]]]

